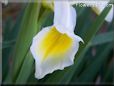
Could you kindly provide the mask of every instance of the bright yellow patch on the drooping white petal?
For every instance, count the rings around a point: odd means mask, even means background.
[[[40,50],[43,52],[43,60],[48,56],[56,57],[62,55],[72,46],[72,38],[67,34],[62,34],[55,27],[45,35],[41,41]]]

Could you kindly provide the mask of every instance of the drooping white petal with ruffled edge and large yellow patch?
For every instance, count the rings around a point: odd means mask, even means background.
[[[56,27],[46,27],[33,39],[31,52],[35,58],[35,77],[43,78],[55,70],[73,64],[74,56],[79,48],[81,38],[60,33]]]

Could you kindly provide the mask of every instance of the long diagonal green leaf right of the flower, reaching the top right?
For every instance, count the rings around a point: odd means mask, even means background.
[[[84,48],[88,49],[91,40],[93,39],[93,37],[96,35],[96,32],[100,29],[100,27],[102,26],[104,19],[106,17],[106,15],[108,14],[109,10],[111,7],[106,7],[103,12],[101,13],[100,16],[98,16],[96,18],[96,20],[92,23],[92,25],[90,26],[90,29],[84,34],[84,36],[82,37],[84,40],[84,46],[80,45],[80,49],[77,53],[77,59],[75,59],[75,66],[74,66],[74,70],[72,70],[72,72],[70,73],[70,76],[68,77],[69,81],[67,81],[67,83],[70,82],[72,76],[75,73],[75,70],[78,70],[78,66],[81,63],[81,61],[83,61],[84,56],[82,56],[82,53],[84,51]]]

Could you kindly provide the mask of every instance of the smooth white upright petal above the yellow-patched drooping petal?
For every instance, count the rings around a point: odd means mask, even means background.
[[[61,26],[65,28],[57,28],[60,32],[68,30],[74,31],[76,25],[76,11],[70,6],[68,1],[54,2],[54,26]]]

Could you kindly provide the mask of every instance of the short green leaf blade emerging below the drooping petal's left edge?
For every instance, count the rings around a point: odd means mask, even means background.
[[[33,62],[34,59],[30,52],[28,52],[27,56],[25,57],[25,60],[23,62],[23,65],[20,69],[18,78],[16,80],[16,84],[26,84],[27,79],[29,78],[29,75],[31,74],[31,71],[33,70]]]

